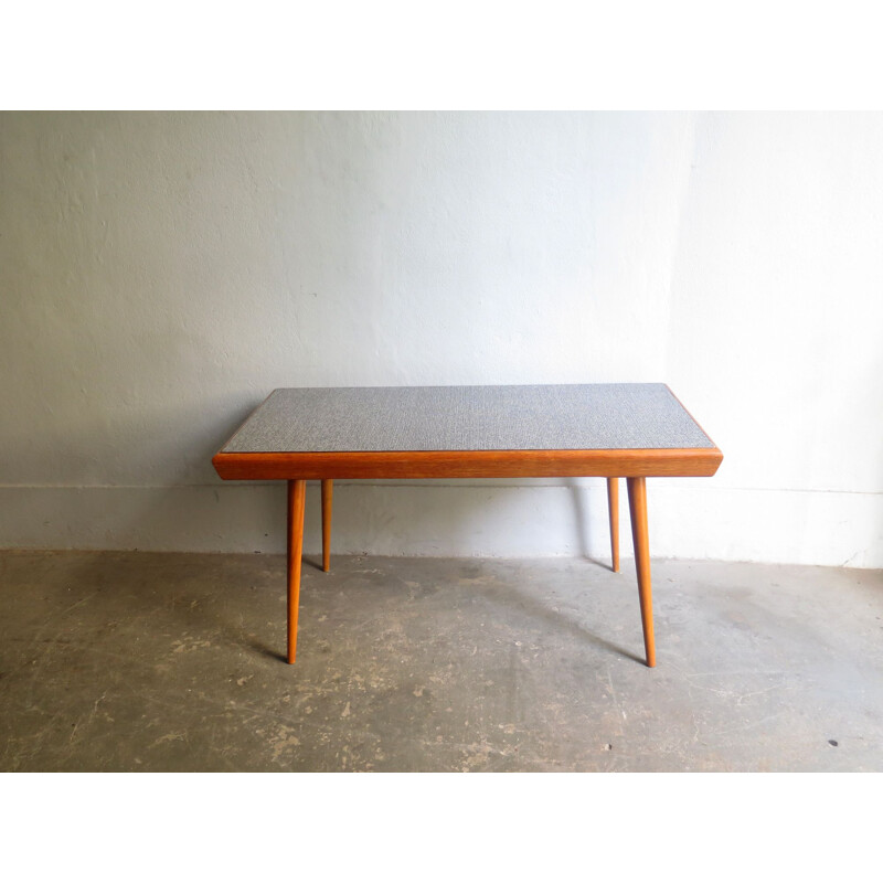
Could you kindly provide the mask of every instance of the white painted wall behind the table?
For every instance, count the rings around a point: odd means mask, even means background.
[[[653,555],[883,566],[881,157],[880,114],[0,114],[0,545],[283,551],[210,462],[275,386],[664,381],[725,458],[650,482]],[[339,482],[334,551],[605,557],[605,507]]]

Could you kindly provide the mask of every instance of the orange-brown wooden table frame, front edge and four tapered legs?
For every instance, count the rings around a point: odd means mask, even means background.
[[[716,447],[617,450],[456,451],[221,451],[212,462],[224,479],[283,479],[288,482],[288,662],[297,655],[300,563],[307,480],[322,487],[322,570],[329,570],[334,479],[546,478],[607,479],[613,566],[619,570],[619,478],[626,479],[638,596],[647,664],[656,666],[646,479],[653,476],[713,476],[723,460]]]

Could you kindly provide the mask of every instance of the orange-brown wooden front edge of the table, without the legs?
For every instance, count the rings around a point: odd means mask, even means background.
[[[634,450],[405,450],[225,453],[212,458],[225,480],[292,478],[564,478],[713,476],[717,448]]]

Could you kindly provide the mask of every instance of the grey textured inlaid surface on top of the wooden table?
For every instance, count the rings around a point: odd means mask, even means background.
[[[274,390],[226,454],[713,448],[664,383]]]

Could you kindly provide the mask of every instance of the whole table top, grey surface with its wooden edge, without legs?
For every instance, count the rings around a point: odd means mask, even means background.
[[[663,383],[274,392],[212,458],[224,479],[711,476]]]

